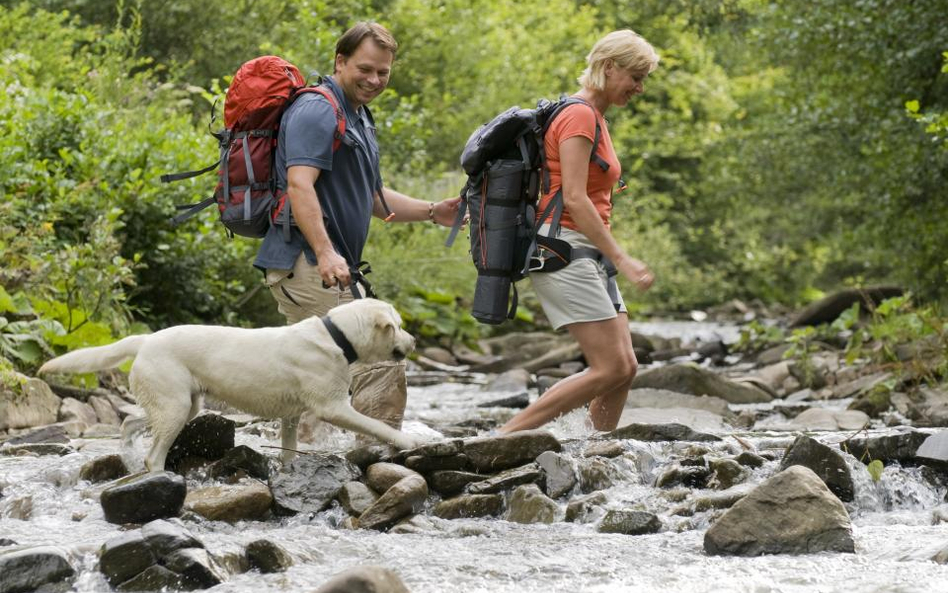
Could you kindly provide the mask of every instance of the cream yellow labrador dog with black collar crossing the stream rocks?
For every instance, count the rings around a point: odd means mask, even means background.
[[[402,359],[414,345],[394,307],[358,299],[325,317],[285,327],[180,325],[129,336],[54,358],[39,372],[86,373],[134,357],[129,384],[152,430],[145,466],[154,472],[164,469],[168,449],[200,411],[205,394],[250,414],[280,418],[284,449],[296,449],[296,427],[305,410],[341,428],[413,448],[419,439],[352,408],[349,365]],[[292,457],[284,451],[284,461]]]

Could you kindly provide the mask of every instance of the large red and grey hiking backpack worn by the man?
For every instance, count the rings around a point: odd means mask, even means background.
[[[227,89],[224,129],[211,132],[220,145],[220,159],[197,171],[161,176],[161,181],[168,183],[216,169],[219,177],[214,195],[197,204],[177,206],[185,212],[172,218],[172,224],[181,224],[216,202],[220,220],[229,232],[265,236],[286,199],[285,192],[276,187],[274,171],[280,119],[303,93],[319,93],[332,105],[336,113],[335,152],[345,138],[346,116],[332,91],[325,86],[306,86],[296,66],[283,58],[263,56],[245,62]]]

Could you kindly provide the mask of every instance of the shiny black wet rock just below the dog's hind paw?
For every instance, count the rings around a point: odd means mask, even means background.
[[[147,523],[176,517],[186,494],[184,478],[154,472],[122,478],[102,491],[100,502],[110,523]]]

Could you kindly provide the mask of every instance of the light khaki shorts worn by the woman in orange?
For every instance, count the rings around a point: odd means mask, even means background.
[[[539,232],[546,234],[548,229],[549,225],[543,225]],[[561,228],[558,238],[573,247],[595,249],[586,235],[572,229]],[[603,265],[588,258],[574,259],[556,272],[532,272],[530,282],[553,329],[570,323],[614,319],[617,313],[626,312],[618,287],[618,302],[609,296],[609,277]]]

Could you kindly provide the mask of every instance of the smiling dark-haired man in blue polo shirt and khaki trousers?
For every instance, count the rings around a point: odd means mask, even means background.
[[[345,138],[336,150],[336,112],[326,97],[303,94],[283,116],[275,166],[294,226],[288,238],[282,225],[271,227],[254,266],[265,271],[287,323],[325,315],[353,299],[350,283],[373,215],[450,226],[457,214],[459,198],[435,204],[382,185],[375,127],[366,105],[385,90],[397,48],[392,34],[377,23],[357,23],[339,38],[333,76],[325,81],[346,119]],[[407,398],[404,363],[368,367],[357,362],[352,374],[353,407],[401,428]]]

